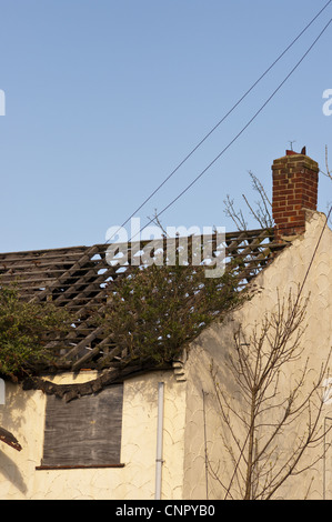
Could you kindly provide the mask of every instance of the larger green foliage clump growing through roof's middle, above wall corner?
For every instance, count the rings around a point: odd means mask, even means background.
[[[131,359],[170,362],[243,295],[231,273],[208,279],[203,267],[137,268],[119,278],[105,318],[112,339]]]

